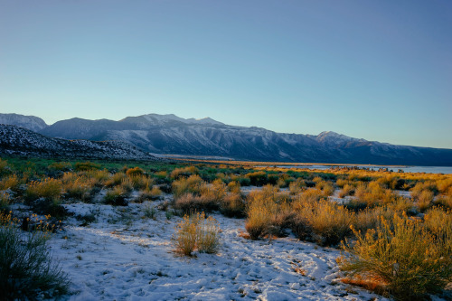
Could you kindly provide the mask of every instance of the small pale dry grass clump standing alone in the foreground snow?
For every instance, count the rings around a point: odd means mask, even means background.
[[[219,245],[220,227],[211,217],[205,218],[204,212],[184,216],[175,227],[173,237],[176,252],[191,256],[194,250],[201,253],[216,253]]]

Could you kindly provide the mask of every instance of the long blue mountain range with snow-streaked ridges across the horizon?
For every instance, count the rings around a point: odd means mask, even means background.
[[[116,140],[155,154],[218,155],[272,162],[452,166],[452,149],[396,146],[331,131],[316,136],[282,134],[173,114],[147,114],[118,121],[71,118],[51,126],[41,118],[0,114],[0,123],[63,139]]]

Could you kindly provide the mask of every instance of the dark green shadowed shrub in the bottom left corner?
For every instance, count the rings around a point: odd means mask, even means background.
[[[66,294],[68,277],[52,263],[48,230],[23,232],[0,212],[0,291],[2,299],[55,298]]]

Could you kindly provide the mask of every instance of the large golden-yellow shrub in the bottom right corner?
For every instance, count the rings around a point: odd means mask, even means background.
[[[344,243],[340,267],[350,277],[378,282],[400,300],[437,293],[452,280],[452,253],[419,221],[394,216],[365,234],[353,230],[354,243]]]

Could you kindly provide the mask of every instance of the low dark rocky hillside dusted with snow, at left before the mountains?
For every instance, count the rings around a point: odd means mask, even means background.
[[[155,157],[119,141],[51,138],[24,127],[0,124],[0,154],[39,157],[155,160]]]

